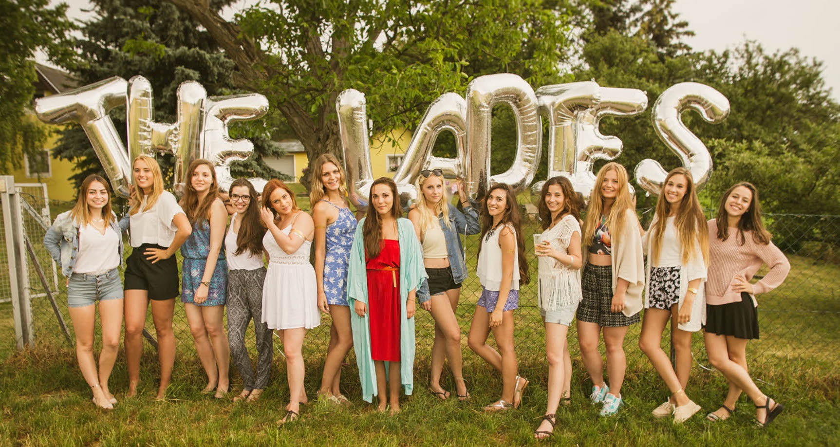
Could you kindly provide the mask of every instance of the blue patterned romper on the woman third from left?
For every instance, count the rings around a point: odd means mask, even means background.
[[[184,262],[181,265],[181,302],[189,302],[197,306],[222,306],[225,302],[228,287],[228,262],[224,259],[224,244],[218,252],[216,269],[210,278],[207,290],[207,300],[197,303],[192,301],[196,289],[201,285],[204,276],[204,266],[207,265],[207,255],[210,254],[210,223],[202,219],[202,223],[192,224],[192,234],[181,245],[181,255]]]

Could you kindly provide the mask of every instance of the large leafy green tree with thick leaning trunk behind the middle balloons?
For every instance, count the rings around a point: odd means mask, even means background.
[[[170,1],[234,60],[239,87],[270,97],[310,160],[340,155],[335,99],[346,88],[365,92],[373,132],[386,133],[412,129],[474,76],[510,71],[539,85],[565,57],[568,17],[540,0],[276,0],[234,22],[200,0]]]

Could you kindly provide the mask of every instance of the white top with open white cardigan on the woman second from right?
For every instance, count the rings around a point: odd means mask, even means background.
[[[656,218],[650,223],[648,233],[642,238],[643,250],[648,254],[644,281],[644,289],[646,291],[644,294],[644,308],[650,307],[650,298],[648,297],[650,293],[650,269],[652,267],[680,267],[680,290],[677,291],[680,306],[685,301],[685,293],[688,292],[689,281],[699,278],[701,282],[700,287],[697,287],[697,294],[691,305],[691,317],[688,323],[680,323],[677,327],[686,332],[697,332],[706,323],[706,291],[704,287],[706,282],[706,263],[703,261],[700,241],[697,239],[694,241],[694,251],[688,263],[685,265],[682,263],[682,245],[680,244],[680,236],[677,234],[677,228],[674,222],[674,216],[670,216],[665,220],[665,231],[662,234],[662,248],[659,250],[659,260],[657,260],[656,265],[653,262],[653,233],[655,233]],[[705,229],[700,228],[699,230],[703,231]]]

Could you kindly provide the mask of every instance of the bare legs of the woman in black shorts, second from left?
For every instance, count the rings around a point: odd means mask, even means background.
[[[134,397],[140,381],[140,356],[143,354],[143,328],[146,323],[146,309],[151,301],[152,320],[158,342],[158,361],[160,362],[160,386],[156,399],[165,397],[166,387],[172,381],[172,366],[175,365],[175,334],[172,333],[172,313],[175,310],[175,298],[168,300],[150,300],[145,290],[126,290],[123,302],[125,312],[125,356],[129,369],[129,392],[127,397]]]

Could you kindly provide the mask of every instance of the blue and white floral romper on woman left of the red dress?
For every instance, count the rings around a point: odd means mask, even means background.
[[[327,226],[326,254],[323,260],[323,292],[327,303],[347,306],[347,264],[350,245],[356,232],[356,218],[350,208],[339,208],[333,202],[321,199],[338,208],[339,217]]]

